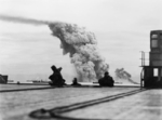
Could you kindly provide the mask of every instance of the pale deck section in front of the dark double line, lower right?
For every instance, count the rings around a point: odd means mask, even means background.
[[[84,119],[162,120],[162,90],[145,91],[63,116]]]

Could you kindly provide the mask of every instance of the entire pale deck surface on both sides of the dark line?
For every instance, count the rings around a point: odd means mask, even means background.
[[[28,115],[40,108],[52,109],[137,89],[139,88],[57,88],[3,92],[0,93],[0,115],[2,120],[36,120]],[[162,90],[147,90],[116,101],[67,111],[62,116],[83,119],[162,120]]]

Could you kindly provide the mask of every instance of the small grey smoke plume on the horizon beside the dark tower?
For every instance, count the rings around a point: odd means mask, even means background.
[[[131,83],[138,84],[137,82],[131,79],[131,75],[127,71],[125,71],[124,68],[121,68],[121,69],[117,68],[114,72],[116,72],[117,79],[125,79],[125,80],[129,80]]]

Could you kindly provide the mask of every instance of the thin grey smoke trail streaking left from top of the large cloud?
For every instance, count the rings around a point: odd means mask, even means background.
[[[32,24],[32,25],[49,25],[49,24],[51,24],[51,22],[46,22],[46,21],[37,21],[37,19],[32,19],[32,18],[15,17],[15,16],[8,16],[8,15],[0,15],[0,19],[5,21],[5,22]]]

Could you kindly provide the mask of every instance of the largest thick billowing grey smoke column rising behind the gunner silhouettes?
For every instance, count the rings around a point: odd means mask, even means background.
[[[108,64],[100,56],[93,32],[66,23],[50,24],[53,36],[60,39],[63,54],[70,54],[80,81],[94,81],[108,70]]]

